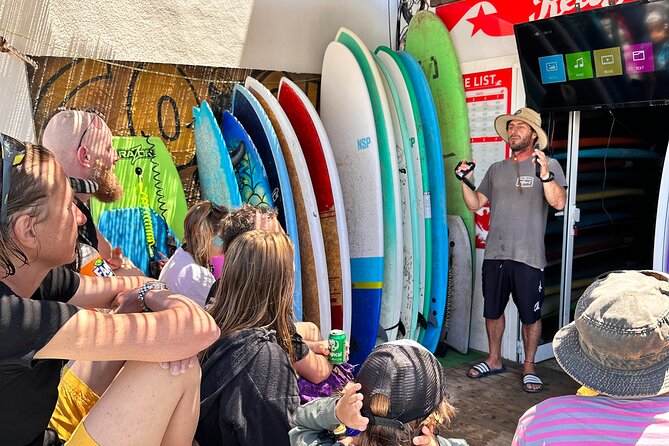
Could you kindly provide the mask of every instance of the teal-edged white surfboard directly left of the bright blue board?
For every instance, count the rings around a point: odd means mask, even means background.
[[[426,300],[428,301],[427,305],[429,308],[429,299],[431,296],[432,289],[432,215],[431,215],[431,196],[430,196],[430,175],[427,166],[427,153],[425,146],[425,138],[423,135],[423,122],[420,116],[420,109],[418,105],[418,98],[416,91],[414,89],[413,82],[407,68],[402,61],[400,54],[392,51],[389,52],[385,47],[379,47],[379,56],[390,56],[392,57],[393,62],[397,64],[402,80],[397,80],[395,82],[396,86],[401,89],[401,85],[404,84],[406,87],[407,93],[409,95],[410,104],[407,107],[405,104],[406,97],[400,94],[400,99],[402,100],[405,116],[407,117],[407,129],[409,135],[416,135],[415,143],[411,147],[411,154],[414,159],[414,168],[416,169],[416,178],[420,178],[420,181],[416,181],[416,194],[418,195],[418,216],[423,216],[424,226],[419,228],[419,234],[421,239],[421,290],[420,295],[421,299],[412,306],[411,309],[411,325],[405,323],[405,327],[410,327],[407,329],[407,336],[411,339],[418,339],[418,314],[421,316],[424,311],[424,306]],[[390,65],[390,61],[389,61]],[[394,70],[391,70],[391,75],[396,73]],[[422,194],[421,194],[422,189]],[[407,316],[408,317],[408,316]]]

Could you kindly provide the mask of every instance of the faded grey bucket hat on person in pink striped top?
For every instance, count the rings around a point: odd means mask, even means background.
[[[553,339],[555,358],[580,384],[603,395],[643,398],[669,392],[669,281],[654,271],[598,278],[574,321]]]

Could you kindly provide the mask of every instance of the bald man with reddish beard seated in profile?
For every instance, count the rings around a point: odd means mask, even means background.
[[[141,275],[142,272],[123,257],[120,248],[112,249],[95,227],[88,209],[92,196],[103,203],[111,203],[123,195],[123,187],[114,173],[114,164],[119,157],[112,146],[112,132],[104,117],[94,110],[57,109],[46,121],[41,143],[53,152],[70,177],[77,207],[86,216],[86,223],[79,228],[79,242],[99,251],[116,274]],[[97,189],[80,180],[95,182]]]

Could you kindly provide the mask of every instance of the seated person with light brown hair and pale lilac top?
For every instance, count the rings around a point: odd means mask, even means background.
[[[221,221],[225,207],[202,201],[188,210],[181,247],[165,263],[158,280],[204,307],[214,284],[212,258],[223,254]]]

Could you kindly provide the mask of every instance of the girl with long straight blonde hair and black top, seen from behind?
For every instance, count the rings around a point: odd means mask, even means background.
[[[291,366],[293,249],[282,232],[252,230],[225,251],[209,309],[221,337],[201,361],[200,446],[289,444],[300,401]]]

